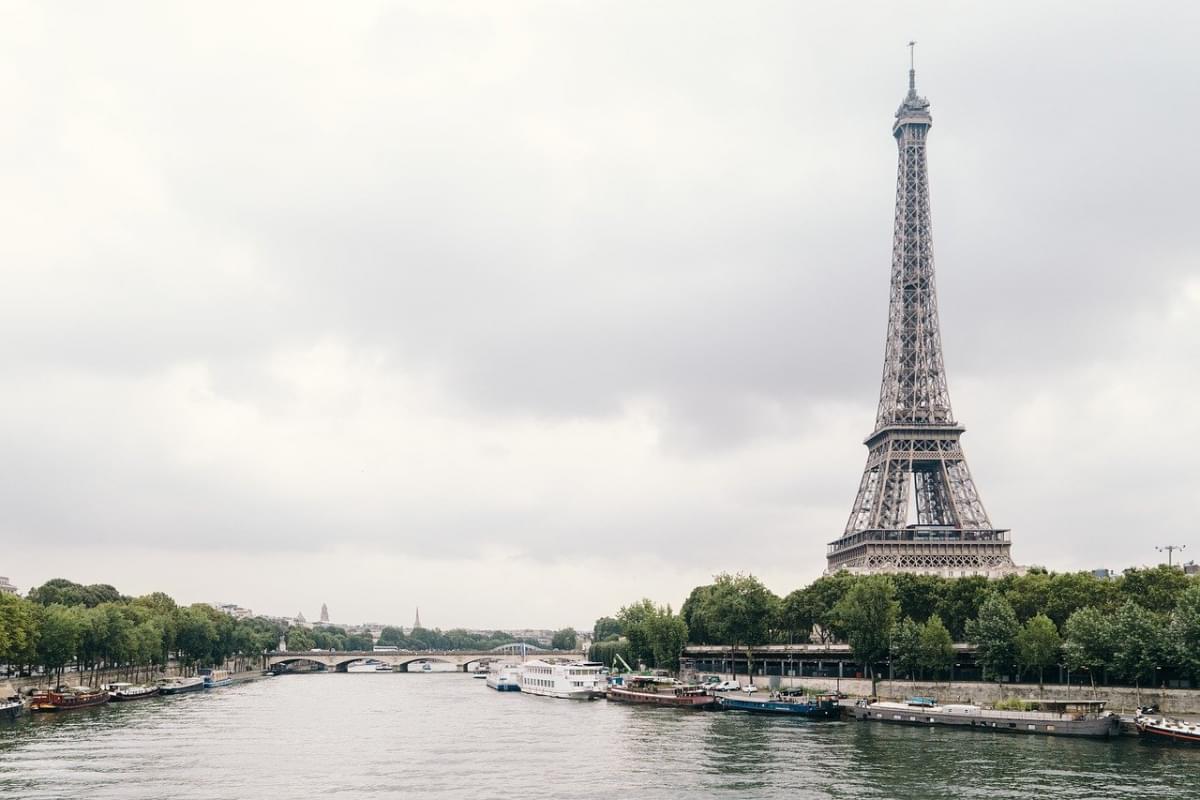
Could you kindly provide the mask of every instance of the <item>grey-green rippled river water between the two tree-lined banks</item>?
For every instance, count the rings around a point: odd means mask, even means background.
[[[0,723],[0,798],[1200,798],[1200,748],[284,675]]]

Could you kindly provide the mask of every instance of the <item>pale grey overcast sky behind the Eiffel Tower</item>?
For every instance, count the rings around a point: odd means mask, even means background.
[[[586,625],[821,573],[907,79],[1021,564],[1189,543],[1194,4],[4,2],[0,575]]]

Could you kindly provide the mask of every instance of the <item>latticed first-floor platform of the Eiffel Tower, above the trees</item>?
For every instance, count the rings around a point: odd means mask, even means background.
[[[1013,564],[1007,530],[962,530],[910,525],[860,530],[829,545],[826,575],[847,570],[856,575],[912,572],[961,578],[982,575],[1002,578],[1024,572]]]

